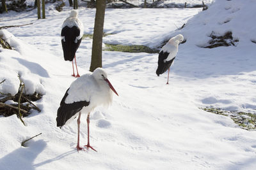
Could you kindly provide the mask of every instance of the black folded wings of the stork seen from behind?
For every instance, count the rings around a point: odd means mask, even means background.
[[[76,51],[82,41],[81,39],[78,39],[77,43],[75,43],[75,40],[77,36],[80,34],[80,29],[76,26],[68,27],[65,26],[63,29],[61,29],[61,36],[64,36],[64,39],[61,39],[61,45],[64,53],[64,59],[72,61],[74,59],[74,56],[76,54]]]

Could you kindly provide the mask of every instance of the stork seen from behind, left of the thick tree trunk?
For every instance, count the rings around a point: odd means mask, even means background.
[[[72,61],[73,74],[74,77],[79,77],[79,73],[76,71],[77,75],[74,73],[74,63],[75,58],[76,63],[76,51],[79,47],[83,38],[83,24],[77,18],[77,11],[72,10],[70,16],[63,22],[61,29],[61,45],[64,53],[64,59]]]

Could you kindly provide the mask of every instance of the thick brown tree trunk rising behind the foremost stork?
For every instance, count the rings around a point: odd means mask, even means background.
[[[96,14],[93,30],[92,41],[92,61],[90,71],[94,71],[97,67],[102,67],[102,35],[105,17],[105,0],[96,1]]]

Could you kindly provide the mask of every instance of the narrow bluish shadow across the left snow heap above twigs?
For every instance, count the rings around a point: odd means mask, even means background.
[[[15,60],[18,60],[20,64],[27,67],[31,71],[31,73],[38,74],[39,76],[42,76],[42,77],[45,77],[45,78],[50,77],[48,72],[46,71],[46,69],[44,69],[42,66],[40,66],[36,62],[29,62],[27,60],[19,59],[19,58],[16,58],[16,57],[12,57],[12,58],[15,59]]]

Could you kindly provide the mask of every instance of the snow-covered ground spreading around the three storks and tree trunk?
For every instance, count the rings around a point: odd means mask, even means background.
[[[177,34],[186,43],[179,46],[170,85],[167,73],[155,73],[157,53],[103,52],[103,67],[119,97],[92,113],[91,145],[98,152],[79,153],[76,121],[56,127],[61,98],[75,80],[60,42],[70,8],[47,10],[45,20],[37,20],[36,10],[1,14],[0,26],[33,24],[2,31],[14,50],[0,48],[0,82],[6,79],[0,91],[15,94],[20,74],[26,92],[44,96],[35,103],[42,112],[24,118],[26,127],[15,115],[0,117],[0,169],[255,169],[256,132],[199,109],[256,112],[255,8],[253,0],[216,0],[206,11],[107,9],[104,31],[113,34],[104,43],[156,47]],[[78,11],[84,33],[92,34],[95,9]],[[232,31],[239,42],[201,48],[212,31]],[[77,51],[81,73],[90,67],[91,48],[92,39],[84,39]],[[81,144],[86,144],[86,115],[81,120]],[[40,132],[28,147],[20,146]]]

